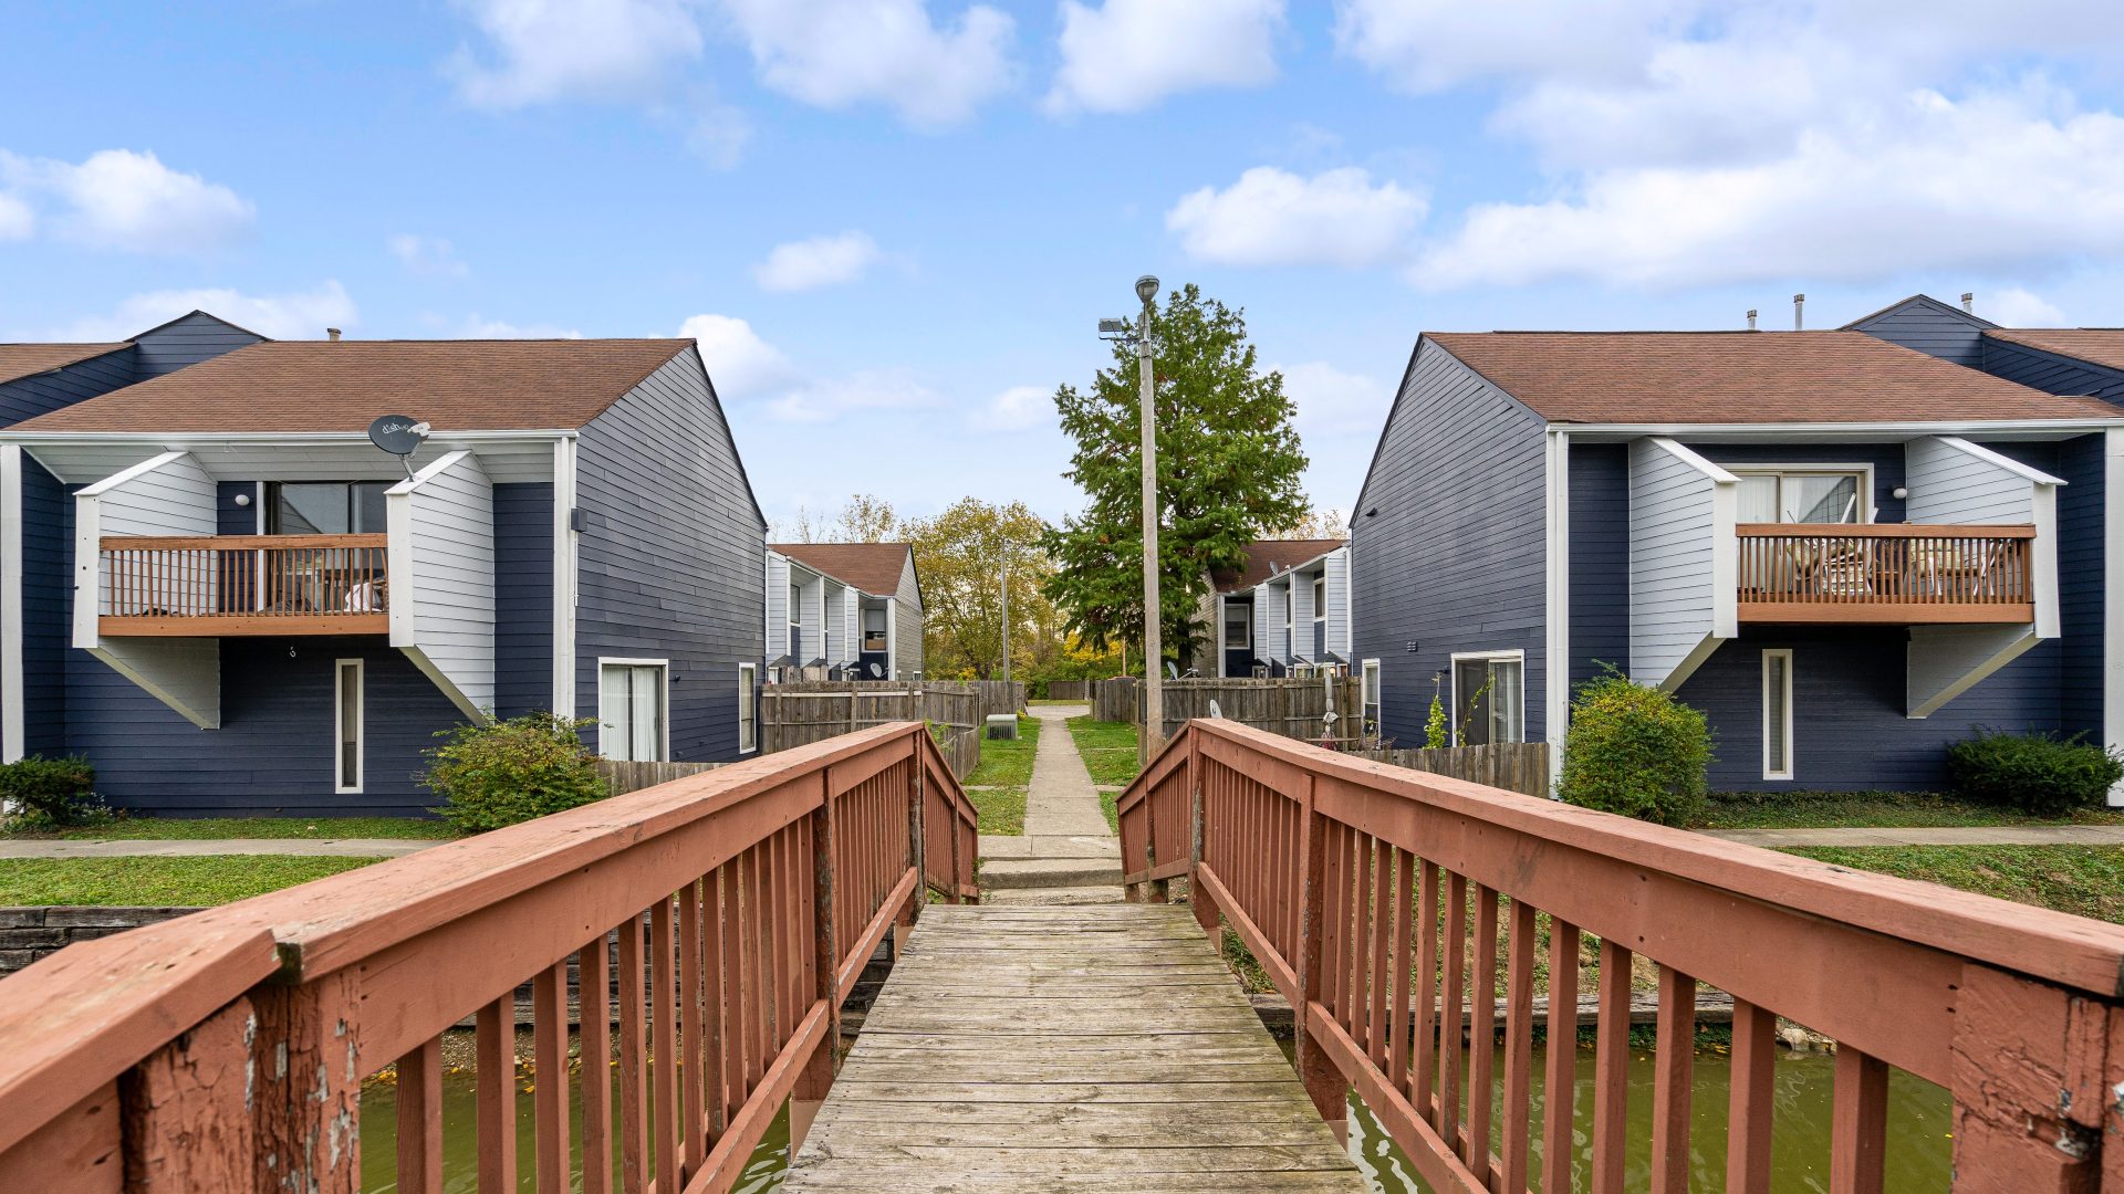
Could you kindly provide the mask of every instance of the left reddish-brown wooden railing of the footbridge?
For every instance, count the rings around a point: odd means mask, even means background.
[[[478,1190],[514,1194],[527,979],[537,1188],[729,1190],[824,1096],[884,935],[977,894],[975,824],[920,724],[875,727],[72,945],[0,982],[0,1190],[353,1194],[395,1060],[393,1177],[438,1194],[440,1035],[474,1013]],[[616,988],[616,1105],[607,1009],[569,1079],[569,958]]]

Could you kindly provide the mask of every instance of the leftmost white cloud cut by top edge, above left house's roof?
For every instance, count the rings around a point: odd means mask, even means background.
[[[684,0],[459,0],[459,8],[486,34],[491,62],[465,47],[446,72],[480,108],[644,98],[675,64],[701,55]]]

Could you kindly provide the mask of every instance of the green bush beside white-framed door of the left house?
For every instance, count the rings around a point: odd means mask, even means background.
[[[429,812],[459,833],[486,833],[605,799],[597,756],[576,733],[586,724],[537,712],[435,733],[444,744],[427,752],[421,782],[444,803]]]

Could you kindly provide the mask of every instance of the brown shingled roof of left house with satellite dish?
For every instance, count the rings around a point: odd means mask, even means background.
[[[582,427],[690,340],[268,340],[17,423],[17,431]]]

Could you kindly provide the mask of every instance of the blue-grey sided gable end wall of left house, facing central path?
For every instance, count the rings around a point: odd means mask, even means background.
[[[688,348],[578,440],[576,712],[597,659],[671,661],[671,756],[737,758],[737,665],[767,642],[767,523]]]

